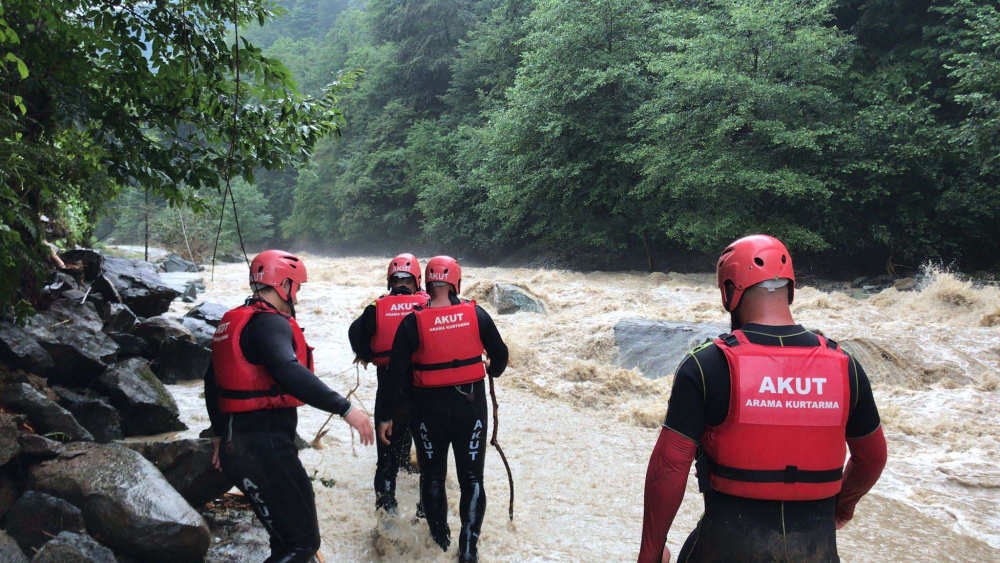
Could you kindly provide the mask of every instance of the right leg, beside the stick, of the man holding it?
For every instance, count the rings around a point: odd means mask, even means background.
[[[486,385],[483,381],[463,385],[461,391],[471,391],[466,397],[471,396],[472,400],[466,398],[455,405],[456,416],[452,421],[452,448],[455,451],[458,484],[462,489],[458,558],[462,563],[476,563],[479,532],[486,515],[486,489],[483,487],[483,467],[489,441]]]

